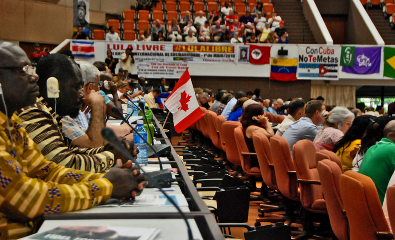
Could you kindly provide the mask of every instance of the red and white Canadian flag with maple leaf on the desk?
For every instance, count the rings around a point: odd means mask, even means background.
[[[180,133],[205,114],[200,110],[188,69],[181,76],[164,106],[173,114],[174,128]]]

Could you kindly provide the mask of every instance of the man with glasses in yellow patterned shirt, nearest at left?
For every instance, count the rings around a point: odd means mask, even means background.
[[[108,173],[79,171],[48,161],[13,114],[39,95],[38,76],[26,53],[0,41],[0,238],[20,239],[34,232],[43,214],[87,209],[110,197],[130,198],[145,177],[117,161]],[[5,107],[6,106],[6,107]]]

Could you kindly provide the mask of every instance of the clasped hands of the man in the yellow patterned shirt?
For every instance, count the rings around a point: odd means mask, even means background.
[[[126,164],[130,164],[127,162]],[[121,160],[107,172],[103,178],[108,179],[113,184],[112,198],[134,198],[139,196],[147,185],[147,177],[140,173],[137,166],[122,168]]]

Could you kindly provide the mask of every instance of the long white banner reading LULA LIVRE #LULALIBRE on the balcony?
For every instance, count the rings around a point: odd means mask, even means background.
[[[237,63],[236,45],[183,44],[171,42],[108,41],[106,52],[120,56],[132,49],[136,62]]]

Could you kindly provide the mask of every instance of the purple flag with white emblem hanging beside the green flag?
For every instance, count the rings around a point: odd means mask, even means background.
[[[380,62],[381,47],[356,47],[354,66],[343,67],[342,71],[351,74],[380,73]]]

